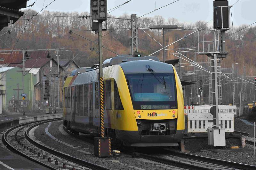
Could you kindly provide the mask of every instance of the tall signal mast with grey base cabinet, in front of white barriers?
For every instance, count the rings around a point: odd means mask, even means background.
[[[210,109],[210,113],[213,115],[213,128],[207,128],[208,132],[208,145],[213,146],[225,146],[226,138],[225,138],[225,126],[222,127],[219,124],[219,108],[218,108],[218,75],[220,74],[220,66],[218,72],[218,63],[220,58],[226,58],[228,52],[225,48],[225,31],[230,29],[230,8],[232,6],[228,5],[228,0],[213,1],[213,29],[206,30],[207,32],[212,32],[212,41],[204,40],[204,29],[202,29],[202,37],[203,40],[200,40],[200,34],[198,32],[198,51],[200,47],[202,48],[202,52],[199,54],[207,55],[211,61],[211,73],[212,73],[212,107]],[[211,34],[211,33],[210,33]],[[220,36],[219,36],[220,34]],[[219,38],[220,37],[220,38]],[[208,45],[208,51],[204,51],[204,43],[212,42],[213,48],[212,51]],[[201,44],[202,46],[199,46]],[[218,58],[218,59],[217,59]],[[210,79],[210,76],[209,76]],[[220,76],[221,80],[221,76]],[[221,82],[221,81],[220,81]],[[209,81],[210,83],[210,81]],[[210,87],[210,85],[209,85]],[[210,92],[210,89],[209,89]],[[210,94],[209,94],[210,96]],[[221,97],[221,96],[220,96]],[[220,99],[220,102],[221,99]]]

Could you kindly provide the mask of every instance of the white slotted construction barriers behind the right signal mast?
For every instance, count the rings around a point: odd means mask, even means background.
[[[207,128],[213,128],[213,115],[210,113],[212,106],[194,106],[187,109],[188,112],[188,133],[207,132]],[[225,132],[234,132],[234,115],[236,106],[219,105],[219,128]]]

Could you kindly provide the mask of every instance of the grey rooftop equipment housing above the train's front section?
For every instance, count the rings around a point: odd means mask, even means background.
[[[153,56],[132,57],[132,55],[117,55],[116,57],[105,60],[103,62],[103,67],[108,67],[115,64],[120,64],[120,63],[130,62],[130,61],[138,61],[138,60],[159,61],[157,57],[153,57]]]

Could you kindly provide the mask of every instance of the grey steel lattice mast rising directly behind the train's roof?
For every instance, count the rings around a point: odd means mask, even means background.
[[[134,52],[138,52],[138,28],[137,28],[137,15],[131,15],[131,39],[130,39],[130,46],[131,46],[131,54],[133,55]]]

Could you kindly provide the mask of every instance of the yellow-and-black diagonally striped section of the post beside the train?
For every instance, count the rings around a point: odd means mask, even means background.
[[[100,134],[104,137],[104,97],[103,97],[103,78],[100,77]]]

